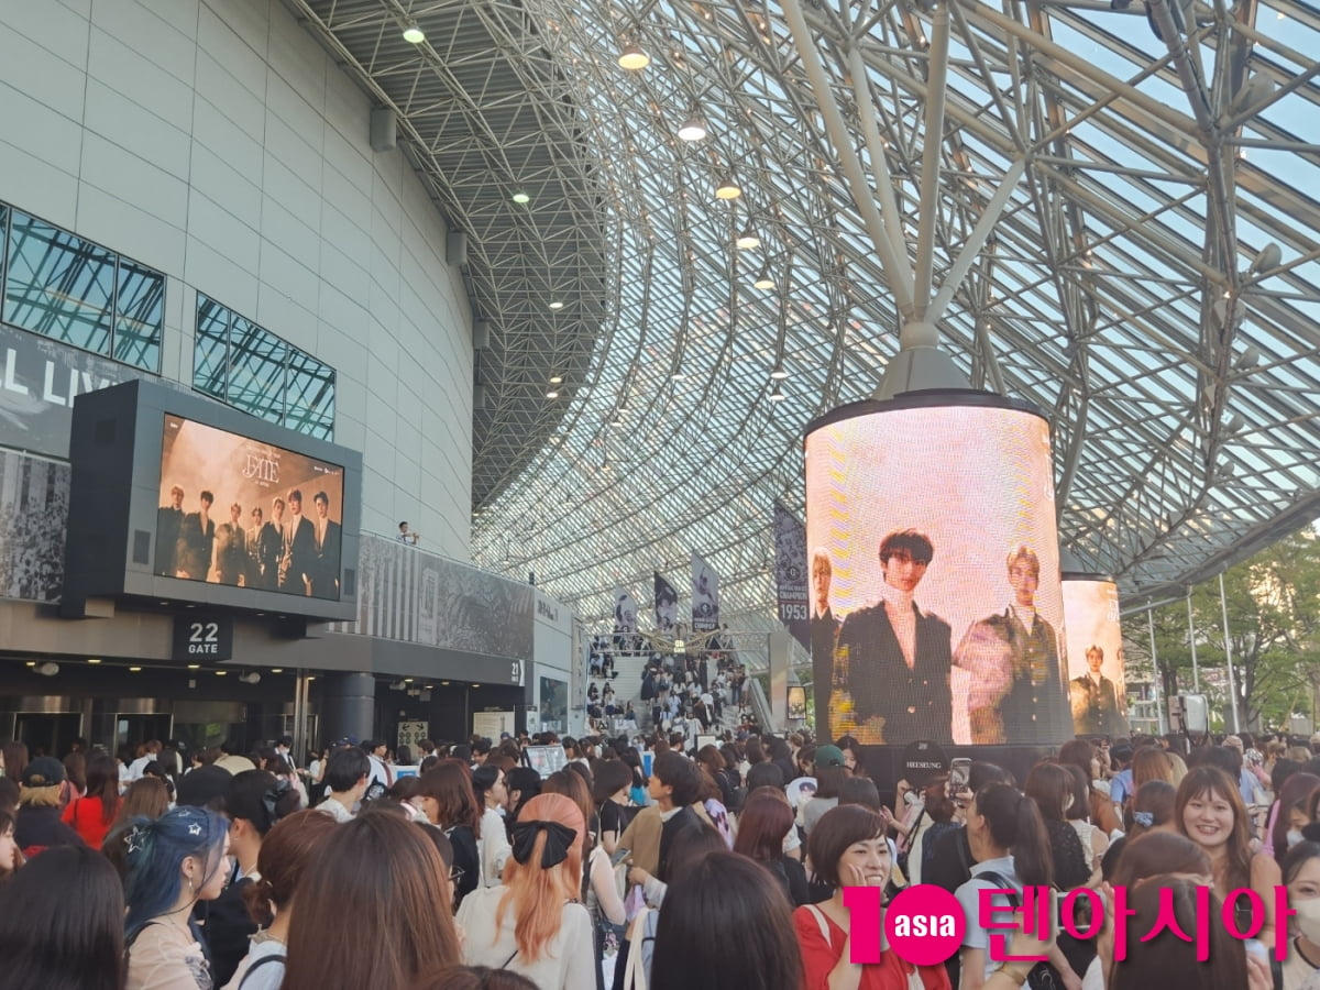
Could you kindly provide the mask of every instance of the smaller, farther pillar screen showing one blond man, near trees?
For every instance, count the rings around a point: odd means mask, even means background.
[[[1068,694],[1077,735],[1125,735],[1127,688],[1118,586],[1107,579],[1064,579]]]

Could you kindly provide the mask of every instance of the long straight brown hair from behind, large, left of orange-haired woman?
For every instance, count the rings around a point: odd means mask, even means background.
[[[403,816],[337,825],[297,884],[282,990],[408,987],[459,962],[444,883],[436,846]]]

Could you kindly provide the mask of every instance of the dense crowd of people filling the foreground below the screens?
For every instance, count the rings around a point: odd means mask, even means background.
[[[891,805],[850,738],[743,735],[424,741],[399,777],[380,741],[306,770],[286,739],[186,770],[154,742],[127,764],[7,743],[0,983],[1320,987],[1311,746],[1074,739],[1019,787],[931,744]],[[527,743],[561,744],[564,768],[543,777]],[[854,964],[845,888],[912,884],[962,906],[961,949]],[[1098,908],[1032,927],[1034,896]],[[1003,944],[987,906],[1019,909]]]

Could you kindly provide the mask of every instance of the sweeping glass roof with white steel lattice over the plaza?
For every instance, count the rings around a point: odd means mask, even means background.
[[[770,627],[772,500],[801,511],[807,421],[874,393],[923,232],[935,289],[953,280],[941,346],[1049,416],[1060,529],[1088,568],[1159,595],[1320,512],[1315,5],[286,4],[400,108],[446,219],[482,246],[478,374],[511,412],[474,420],[477,561],[535,572],[589,620],[615,583],[645,602],[652,569],[681,586],[696,550],[731,624]],[[619,67],[628,42],[647,69]],[[680,140],[694,115],[708,136]],[[463,140],[471,161],[437,169]],[[549,202],[510,202],[546,176]],[[742,195],[717,201],[729,176]],[[748,228],[759,246],[738,249]]]

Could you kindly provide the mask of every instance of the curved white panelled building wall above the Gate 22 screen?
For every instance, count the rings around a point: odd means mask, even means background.
[[[469,558],[471,318],[445,228],[368,100],[276,0],[0,0],[0,199],[169,276],[338,372],[363,528]]]

